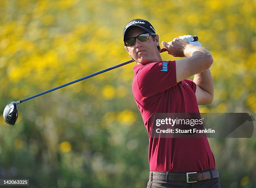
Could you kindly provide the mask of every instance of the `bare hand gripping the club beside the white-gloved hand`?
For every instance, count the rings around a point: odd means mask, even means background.
[[[165,41],[162,42],[162,46],[174,57],[184,57],[184,49],[187,45],[189,45],[189,43],[181,38],[174,38],[173,41],[169,43],[166,43]]]

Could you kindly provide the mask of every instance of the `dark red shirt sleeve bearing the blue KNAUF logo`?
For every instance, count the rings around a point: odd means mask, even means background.
[[[143,97],[151,97],[177,85],[176,62],[150,63],[138,71],[138,87]]]

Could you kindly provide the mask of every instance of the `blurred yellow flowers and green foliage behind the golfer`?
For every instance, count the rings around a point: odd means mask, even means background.
[[[129,60],[129,20],[160,41],[191,34],[214,58],[215,99],[200,112],[256,112],[256,3],[248,0],[1,0],[0,109]],[[163,60],[175,60],[167,53]],[[0,179],[30,188],[141,188],[148,135],[131,91],[135,63],[0,116]],[[209,139],[223,188],[256,187],[256,139]]]

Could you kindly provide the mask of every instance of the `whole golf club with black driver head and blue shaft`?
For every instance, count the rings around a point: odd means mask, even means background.
[[[197,36],[194,36],[193,38],[194,38],[194,41],[198,41],[198,37],[197,37]],[[166,51],[166,49],[165,49],[165,48],[162,48],[161,51],[160,51],[160,53],[162,53],[162,52],[164,52],[164,51]],[[3,118],[4,118],[4,120],[5,120],[6,123],[11,124],[11,125],[14,125],[15,122],[17,121],[17,119],[18,119],[18,104],[20,104],[20,103],[22,103],[22,102],[25,102],[25,101],[28,101],[29,99],[33,99],[33,98],[35,98],[35,97],[39,97],[39,96],[41,96],[41,95],[43,95],[43,94],[46,94],[46,93],[49,93],[49,92],[51,92],[51,91],[60,89],[60,88],[62,88],[62,87],[68,86],[68,85],[70,85],[70,84],[74,84],[74,83],[76,83],[76,82],[78,82],[78,81],[82,81],[82,80],[87,79],[87,78],[90,78],[90,77],[92,77],[92,76],[96,76],[96,75],[101,74],[101,73],[103,73],[103,72],[110,71],[110,70],[112,70],[112,69],[118,68],[118,67],[120,67],[120,66],[124,66],[124,65],[126,65],[126,64],[130,64],[130,63],[132,63],[132,62],[133,62],[133,60],[126,61],[126,62],[121,63],[121,64],[119,64],[119,65],[112,66],[112,67],[110,67],[110,68],[108,68],[108,69],[104,69],[104,70],[99,71],[99,72],[96,72],[96,73],[94,73],[94,74],[90,74],[90,75],[84,76],[84,77],[82,77],[82,78],[80,78],[80,79],[71,81],[71,82],[69,82],[69,83],[67,83],[67,84],[64,84],[64,85],[55,87],[55,88],[50,89],[50,90],[48,90],[48,91],[44,91],[44,92],[42,92],[42,93],[40,93],[40,94],[36,94],[36,95],[34,95],[34,96],[32,96],[32,97],[29,97],[29,98],[26,98],[26,99],[23,99],[23,100],[20,100],[20,101],[17,101],[17,102],[11,102],[11,103],[9,103],[9,104],[6,105],[6,107],[5,107],[5,109],[4,109],[4,112],[3,112]]]

